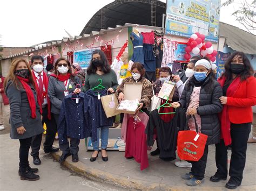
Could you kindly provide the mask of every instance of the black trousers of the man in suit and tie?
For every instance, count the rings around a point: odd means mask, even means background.
[[[51,120],[48,119],[48,107],[43,108],[42,116],[43,116],[42,125],[44,125],[45,123],[47,127],[45,142],[44,142],[44,149],[48,149],[52,147],[52,144],[54,142],[55,135],[57,132],[57,124],[52,113],[51,113]],[[32,137],[31,156],[33,157],[38,157],[39,155],[39,150],[42,142],[42,135],[43,133],[35,137]]]

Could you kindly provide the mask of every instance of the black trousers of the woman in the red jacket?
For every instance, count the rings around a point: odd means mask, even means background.
[[[240,185],[242,182],[242,172],[245,168],[247,140],[251,132],[251,123],[231,124],[232,154],[230,160],[231,181]],[[227,177],[227,147],[224,140],[215,144],[215,161],[217,166],[216,176]]]

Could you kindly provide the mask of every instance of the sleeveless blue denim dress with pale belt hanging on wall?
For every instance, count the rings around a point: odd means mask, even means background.
[[[133,62],[140,62],[144,65],[144,53],[143,53],[143,36],[142,34],[138,33],[139,36],[131,32],[130,39],[132,40],[133,44],[133,54],[131,60]]]

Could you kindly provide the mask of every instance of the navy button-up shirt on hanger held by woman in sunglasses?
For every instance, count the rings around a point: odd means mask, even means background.
[[[84,139],[91,136],[97,140],[97,130],[92,132],[91,129],[95,126],[96,120],[88,120],[95,118],[94,107],[92,98],[83,92],[78,95],[69,94],[64,98],[58,124],[60,142],[68,142],[68,137]]]

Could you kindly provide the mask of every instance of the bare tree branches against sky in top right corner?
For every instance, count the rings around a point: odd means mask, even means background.
[[[234,3],[234,0],[227,0],[222,5],[228,6]],[[239,7],[232,13],[237,21],[242,24],[250,33],[256,30],[256,0],[241,0]]]

